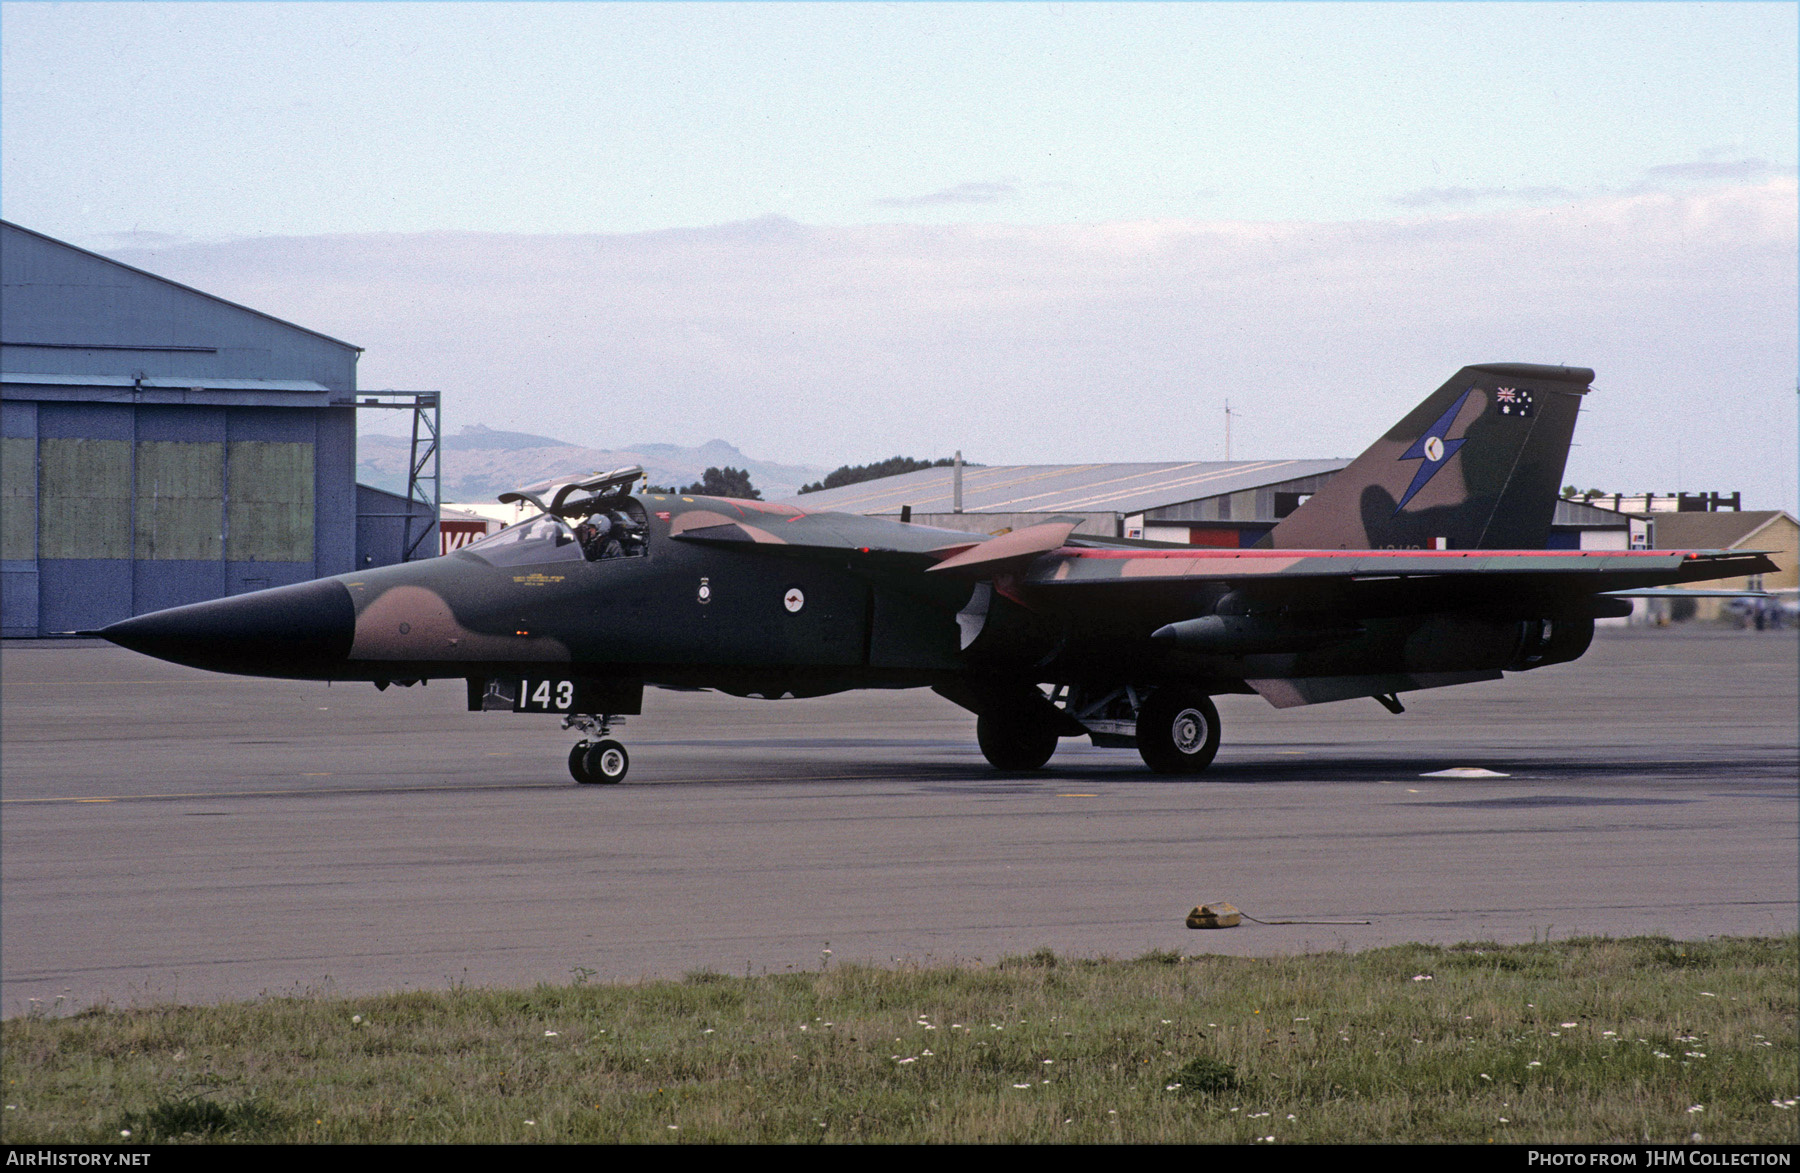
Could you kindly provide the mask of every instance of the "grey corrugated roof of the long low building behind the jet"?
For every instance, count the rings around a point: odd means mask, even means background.
[[[963,513],[1141,513],[1334,473],[1350,461],[1174,461],[1163,464],[990,464],[963,468]],[[949,513],[952,471],[925,468],[790,497],[808,513]]]

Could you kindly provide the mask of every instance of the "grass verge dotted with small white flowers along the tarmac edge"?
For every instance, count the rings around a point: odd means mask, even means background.
[[[1409,945],[0,1024],[7,1142],[1791,1142],[1800,937]]]

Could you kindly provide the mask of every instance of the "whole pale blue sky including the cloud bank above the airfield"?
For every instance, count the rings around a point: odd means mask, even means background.
[[[1795,4],[4,4],[0,216],[446,423],[835,466],[1354,455],[1795,509]]]

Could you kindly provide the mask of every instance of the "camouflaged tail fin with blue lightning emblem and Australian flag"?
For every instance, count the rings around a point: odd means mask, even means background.
[[[1276,549],[1535,551],[1593,371],[1463,367],[1287,515]]]

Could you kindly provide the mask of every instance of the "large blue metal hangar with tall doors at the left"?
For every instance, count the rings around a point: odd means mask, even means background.
[[[358,549],[358,354],[0,223],[0,635],[392,561]]]

